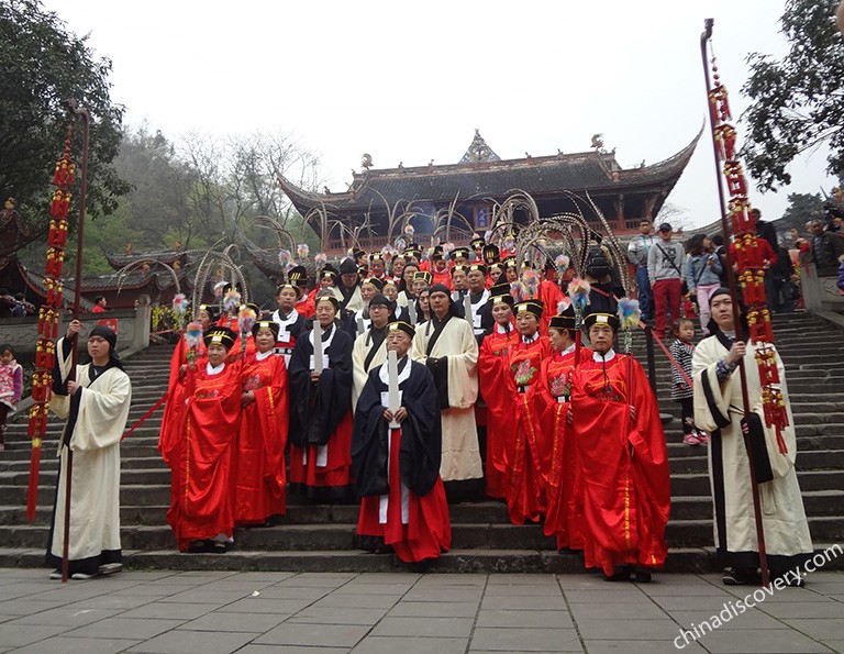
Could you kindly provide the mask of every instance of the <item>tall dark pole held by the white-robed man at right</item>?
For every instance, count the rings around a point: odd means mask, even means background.
[[[724,187],[723,181],[721,178],[721,166],[719,160],[719,144],[715,137],[715,128],[720,122],[719,117],[715,113],[715,108],[713,103],[710,101],[710,95],[712,92],[712,86],[710,84],[709,79],[709,62],[707,58],[707,44],[712,38],[712,25],[714,23],[713,19],[707,19],[703,23],[703,32],[700,35],[700,55],[703,59],[703,77],[706,79],[707,84],[707,106],[709,107],[709,118],[710,123],[712,128],[712,154],[714,156],[715,162],[715,179],[718,180],[718,197],[719,197],[719,207],[721,208],[721,233],[724,237],[724,251],[726,255],[726,277],[730,287],[730,295],[733,298],[733,321],[735,324],[735,340],[736,341],[743,341],[745,340],[745,334],[743,334],[743,328],[742,323],[740,321],[740,309],[738,309],[738,302],[736,301],[738,298],[738,295],[736,292],[737,284],[735,279],[735,275],[733,274],[733,257],[730,253],[730,228],[726,222],[726,203],[724,202]],[[741,376],[741,386],[742,386],[742,404],[744,410],[745,420],[747,420],[747,415],[751,413],[751,403],[749,398],[747,395],[747,373],[744,369],[744,357],[738,359],[738,374]],[[745,434],[744,431],[742,432],[744,435],[744,446],[747,451],[747,464],[751,470],[751,491],[753,495],[753,512],[754,518],[756,522],[756,540],[759,545],[759,567],[762,568],[762,584],[763,586],[767,586],[769,583],[769,574],[768,574],[768,557],[765,550],[765,531],[762,524],[762,502],[759,500],[759,485],[756,480],[756,468],[753,465],[753,451],[751,447],[751,440],[749,435]]]

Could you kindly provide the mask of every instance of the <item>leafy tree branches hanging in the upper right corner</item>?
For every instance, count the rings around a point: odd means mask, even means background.
[[[790,44],[781,60],[748,57],[742,91],[752,106],[743,155],[760,190],[788,185],[788,165],[819,144],[832,151],[828,170],[844,171],[844,38],[833,15],[839,0],[788,0],[780,19]]]

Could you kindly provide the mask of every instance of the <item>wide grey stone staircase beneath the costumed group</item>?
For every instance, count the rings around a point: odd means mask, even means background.
[[[786,362],[799,445],[798,475],[817,547],[844,540],[844,330],[807,314],[776,317],[778,347]],[[634,337],[644,362],[644,335]],[[657,396],[663,413],[676,419],[666,425],[671,468],[671,521],[666,539],[673,572],[713,569],[712,507],[706,445],[681,442],[679,406],[669,399],[667,358],[657,353]],[[125,362],[133,380],[130,423],[164,393],[170,348],[151,346]],[[238,529],[236,547],[225,555],[179,554],[165,514],[169,502],[169,470],[156,450],[160,411],[121,446],[121,519],[124,559],[136,568],[168,569],[296,569],[386,572],[403,569],[392,555],[354,548],[355,505],[297,503],[289,496],[288,513],[273,526]],[[0,453],[0,566],[43,564],[57,461],[54,421],[45,439],[36,520],[25,520],[30,445],[19,418]],[[578,555],[559,555],[540,525],[510,524],[498,501],[462,502],[449,507],[453,550],[433,569],[441,572],[579,572]],[[829,567],[844,568],[844,561]]]

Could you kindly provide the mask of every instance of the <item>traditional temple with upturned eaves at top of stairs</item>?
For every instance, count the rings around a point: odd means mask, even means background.
[[[344,192],[303,190],[281,178],[281,187],[296,209],[322,237],[329,255],[353,245],[380,250],[401,235],[404,224],[413,240],[465,243],[473,232],[490,228],[496,203],[515,192],[530,196],[540,215],[579,212],[598,232],[604,231],[587,196],[620,236],[636,232],[643,218],[655,220],[686,165],[700,133],[674,156],[646,166],[622,168],[615,151],[603,148],[600,135],[588,152],[501,159],[476,130],[466,154],[456,164],[375,169],[364,155],[363,171],[353,173]],[[574,196],[574,197],[573,197]],[[442,217],[451,213],[444,230]],[[524,222],[526,215],[515,217]]]

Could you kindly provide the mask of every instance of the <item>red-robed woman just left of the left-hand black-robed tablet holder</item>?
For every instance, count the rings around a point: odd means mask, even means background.
[[[265,524],[286,511],[287,368],[274,353],[279,325],[258,321],[255,352],[243,363],[241,426],[232,466],[235,525]]]

